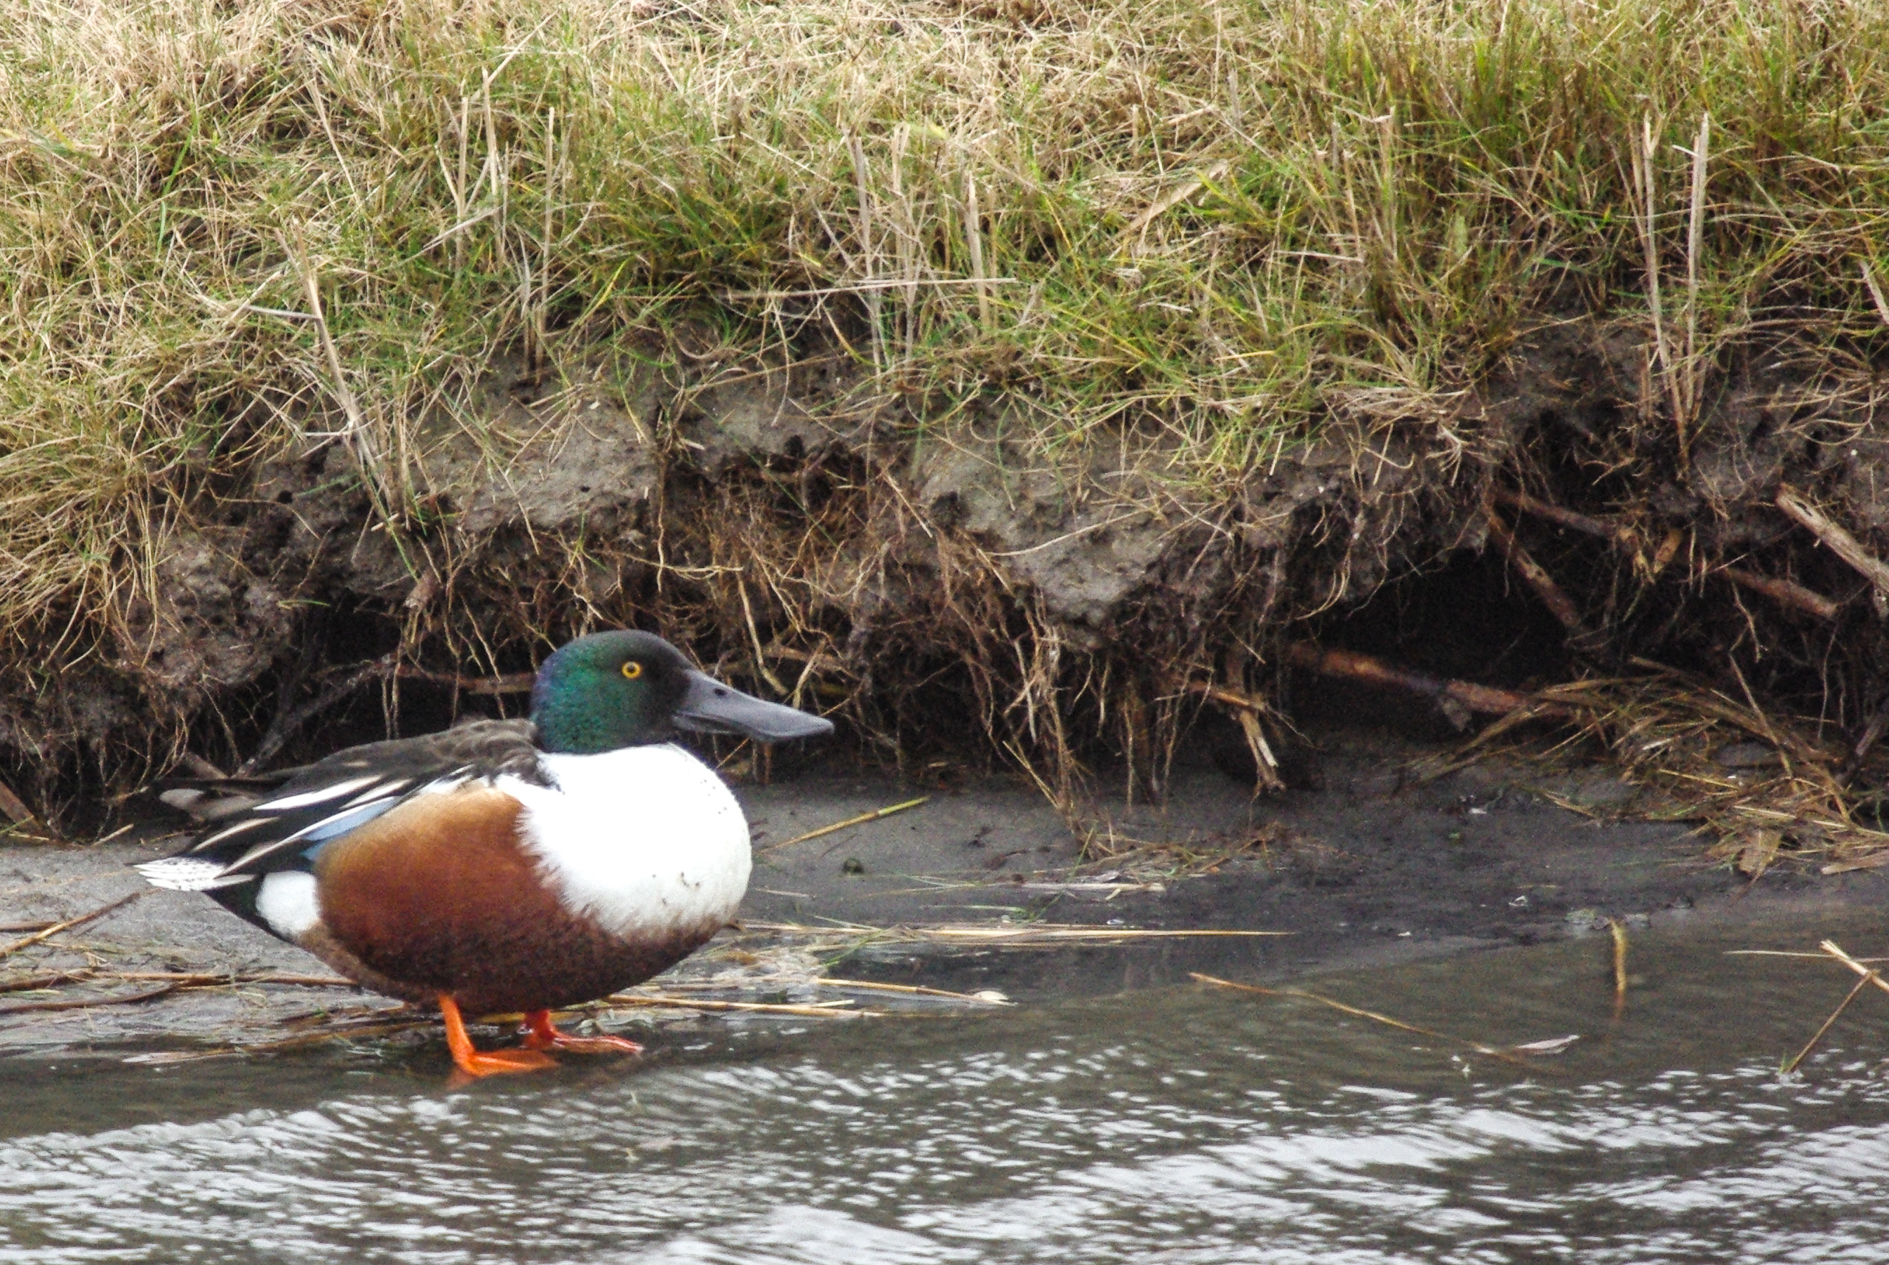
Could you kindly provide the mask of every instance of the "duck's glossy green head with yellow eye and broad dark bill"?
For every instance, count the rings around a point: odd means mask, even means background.
[[[603,632],[557,649],[531,686],[538,745],[565,754],[661,743],[676,730],[778,743],[831,734],[822,717],[769,703],[695,671],[646,632]]]

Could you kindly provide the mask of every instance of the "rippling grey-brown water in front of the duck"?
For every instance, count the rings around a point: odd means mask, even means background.
[[[1319,985],[1489,1042],[1587,1034],[1534,1074],[1179,985],[468,1089],[342,1055],[21,1061],[0,1261],[1889,1259],[1883,1008],[1781,1082],[1847,983],[1725,947],[1636,945],[1611,1036],[1598,940]]]

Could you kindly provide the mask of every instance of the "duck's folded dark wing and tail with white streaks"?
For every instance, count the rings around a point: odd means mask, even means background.
[[[210,824],[191,847],[138,872],[153,887],[215,891],[272,870],[308,868],[325,841],[365,826],[393,806],[472,777],[512,773],[536,779],[538,749],[525,720],[484,720],[444,734],[336,751],[325,760],[266,779],[195,783],[178,804]],[[166,792],[166,796],[172,792]]]

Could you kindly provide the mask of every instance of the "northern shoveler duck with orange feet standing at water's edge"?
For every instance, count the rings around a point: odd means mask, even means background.
[[[829,720],[729,688],[661,637],[604,632],[538,669],[529,720],[366,743],[166,800],[208,824],[138,866],[200,891],[361,985],[436,1004],[470,1076],[550,1066],[552,1010],[667,970],[735,917],[748,823],[676,730],[756,741]],[[523,1012],[523,1049],[482,1053],[461,1012]]]

